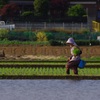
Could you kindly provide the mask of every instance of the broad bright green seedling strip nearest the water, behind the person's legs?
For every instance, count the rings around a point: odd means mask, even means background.
[[[78,69],[79,75],[100,76],[100,68]],[[66,68],[0,68],[0,75],[66,75]],[[71,75],[73,71],[71,70]]]

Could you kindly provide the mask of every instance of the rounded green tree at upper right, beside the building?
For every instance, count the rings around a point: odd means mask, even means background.
[[[82,17],[83,15],[86,15],[86,11],[82,5],[77,4],[77,5],[70,7],[68,9],[67,14],[68,16],[72,16],[72,17],[77,17],[77,16]]]

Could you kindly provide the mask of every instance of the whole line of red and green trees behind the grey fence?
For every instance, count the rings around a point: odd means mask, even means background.
[[[31,10],[23,10],[16,3],[9,3],[9,0],[0,0],[0,18],[5,21],[40,19],[50,22],[78,17],[86,17],[85,8],[80,4],[70,6],[68,0],[33,0]]]

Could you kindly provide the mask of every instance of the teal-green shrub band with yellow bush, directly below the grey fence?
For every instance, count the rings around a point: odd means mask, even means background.
[[[8,31],[6,29],[0,29],[0,40],[19,40],[19,41],[49,41],[49,40],[67,40],[69,37],[73,37],[75,40],[97,40],[97,36],[100,33],[90,33],[88,31],[83,31],[82,33],[74,32],[73,34],[68,33],[64,30],[13,30]]]

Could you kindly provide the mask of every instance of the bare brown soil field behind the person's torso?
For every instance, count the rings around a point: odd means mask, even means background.
[[[82,46],[82,57],[100,57],[100,46]],[[6,58],[30,58],[35,57],[58,57],[70,56],[70,48],[68,46],[31,46],[31,45],[9,45],[0,46],[0,50],[4,51]]]

